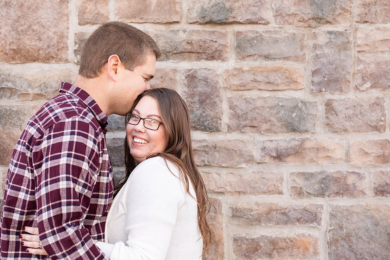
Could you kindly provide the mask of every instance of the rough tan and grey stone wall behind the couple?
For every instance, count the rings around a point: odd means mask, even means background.
[[[4,0],[3,189],[21,130],[108,20],[156,40],[152,82],[191,110],[213,203],[205,259],[388,259],[390,2]],[[118,178],[123,119],[109,128]]]

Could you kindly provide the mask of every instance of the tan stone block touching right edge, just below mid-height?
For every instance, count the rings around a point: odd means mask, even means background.
[[[351,164],[390,164],[390,140],[351,141]]]

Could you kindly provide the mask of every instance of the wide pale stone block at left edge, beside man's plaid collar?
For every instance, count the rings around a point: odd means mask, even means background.
[[[77,68],[39,68],[32,64],[0,68],[0,100],[51,99],[58,94],[61,82],[73,83]]]

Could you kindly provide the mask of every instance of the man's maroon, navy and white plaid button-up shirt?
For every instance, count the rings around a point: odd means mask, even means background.
[[[38,226],[46,259],[106,259],[103,241],[113,180],[107,117],[84,90],[62,83],[35,113],[9,165],[1,219],[1,259],[45,259],[25,252],[19,235]]]

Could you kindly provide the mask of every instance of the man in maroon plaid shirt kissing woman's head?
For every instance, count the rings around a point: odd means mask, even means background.
[[[51,259],[106,259],[104,238],[112,201],[107,116],[125,115],[150,88],[160,50],[144,32],[120,22],[87,39],[74,85],[35,113],[12,154],[1,221],[1,259],[31,259],[24,226],[38,226]]]

